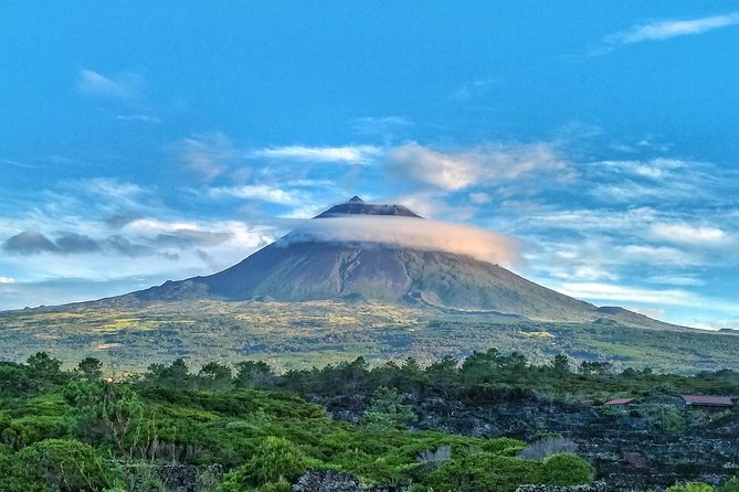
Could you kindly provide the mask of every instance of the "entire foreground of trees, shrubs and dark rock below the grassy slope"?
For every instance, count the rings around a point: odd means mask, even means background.
[[[537,365],[490,349],[284,373],[178,359],[118,378],[96,359],[65,368],[40,352],[0,362],[0,490],[739,491],[736,405],[687,411],[680,394],[736,396],[739,374]],[[640,405],[603,405],[620,396]],[[608,432],[623,439],[594,451]],[[630,439],[654,441],[646,468],[615,456]],[[675,456],[685,441],[714,454],[696,467],[690,449]]]

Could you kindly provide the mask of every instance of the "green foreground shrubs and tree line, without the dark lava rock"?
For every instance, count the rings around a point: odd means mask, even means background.
[[[616,373],[606,363],[573,366],[560,355],[537,365],[488,350],[425,368],[412,359],[376,367],[357,359],[283,374],[254,361],[211,362],[192,372],[180,359],[112,381],[96,359],[65,371],[38,353],[22,364],[0,363],[0,490],[165,491],[184,474],[188,488],[180,490],[287,491],[308,470],[414,492],[591,482],[591,463],[547,429],[528,443],[420,430],[408,403],[412,395],[489,402],[543,392],[550,400],[587,405],[604,395],[739,394],[739,374]],[[369,404],[357,423],[338,421],[305,399],[321,395]],[[665,419],[667,409],[643,411],[666,431],[687,424],[674,410]],[[717,490],[736,491],[737,482]]]

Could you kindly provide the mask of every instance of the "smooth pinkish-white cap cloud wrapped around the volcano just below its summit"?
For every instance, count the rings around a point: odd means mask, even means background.
[[[397,246],[467,255],[500,265],[520,263],[518,242],[490,231],[425,218],[346,216],[307,221],[278,244],[305,242]]]

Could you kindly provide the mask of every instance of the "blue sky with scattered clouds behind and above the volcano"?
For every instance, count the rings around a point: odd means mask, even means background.
[[[359,194],[739,328],[736,3],[399,3],[3,2],[0,309],[212,272]]]

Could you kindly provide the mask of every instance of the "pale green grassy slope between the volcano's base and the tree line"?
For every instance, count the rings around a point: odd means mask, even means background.
[[[498,347],[532,362],[566,353],[576,362],[696,372],[739,370],[739,335],[608,323],[521,321],[448,314],[378,302],[198,301],[138,309],[64,308],[0,313],[0,360],[46,351],[66,364],[85,356],[109,371],[138,372],[187,359],[233,364],[262,360],[277,370],[323,366],[359,355],[431,363]]]

